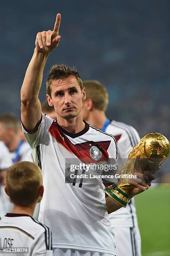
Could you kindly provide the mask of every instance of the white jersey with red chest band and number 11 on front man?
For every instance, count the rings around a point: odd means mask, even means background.
[[[102,158],[117,158],[114,138],[86,124],[76,135],[63,132],[42,115],[38,131],[24,130],[33,148],[34,161],[41,166],[44,195],[39,220],[51,228],[54,248],[75,248],[115,254],[114,233],[108,218],[104,185],[65,183],[65,159],[88,158],[91,146],[102,150]]]

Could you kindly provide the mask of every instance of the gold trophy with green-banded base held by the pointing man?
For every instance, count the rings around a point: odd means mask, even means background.
[[[120,171],[123,174],[144,174],[145,171],[154,174],[170,153],[170,143],[165,136],[160,133],[150,133],[145,135],[137,146],[129,153],[124,167]],[[134,184],[128,183],[128,178],[121,178],[116,184],[106,187],[104,190],[123,207],[127,206],[130,189],[135,188]]]

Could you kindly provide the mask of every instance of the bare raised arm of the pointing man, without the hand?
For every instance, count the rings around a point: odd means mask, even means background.
[[[35,130],[41,119],[41,103],[38,95],[48,55],[34,50],[21,88],[21,120],[24,127],[30,132]]]

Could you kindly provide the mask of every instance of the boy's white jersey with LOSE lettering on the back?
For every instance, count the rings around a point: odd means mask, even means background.
[[[26,214],[8,213],[0,220],[0,251],[10,247],[28,247],[22,256],[52,256],[51,230]],[[3,253],[4,256],[9,253]],[[18,255],[14,253],[12,255]]]

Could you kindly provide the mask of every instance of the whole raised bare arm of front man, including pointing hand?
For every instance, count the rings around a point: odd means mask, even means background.
[[[29,132],[35,131],[36,125],[41,119],[41,103],[38,95],[48,55],[60,41],[60,36],[58,36],[60,20],[61,15],[58,13],[53,31],[38,32],[36,48],[21,87],[21,120]]]

